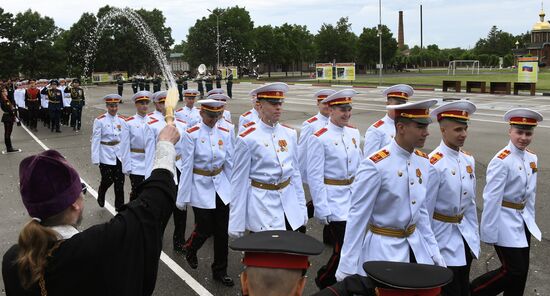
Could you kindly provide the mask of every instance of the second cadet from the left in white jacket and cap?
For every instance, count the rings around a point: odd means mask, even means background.
[[[122,173],[130,176],[132,191],[130,201],[137,198],[137,187],[145,180],[145,126],[147,110],[153,94],[142,90],[132,96],[136,114],[126,118],[120,135],[122,154]]]

